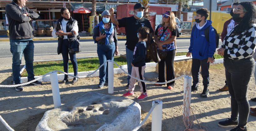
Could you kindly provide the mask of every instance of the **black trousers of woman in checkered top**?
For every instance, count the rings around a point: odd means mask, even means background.
[[[237,120],[238,126],[245,128],[249,116],[247,90],[255,70],[254,59],[224,59],[226,80],[231,96],[231,119]]]

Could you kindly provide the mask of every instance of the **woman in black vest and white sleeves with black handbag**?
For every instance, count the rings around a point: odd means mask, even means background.
[[[63,67],[64,72],[68,73],[68,54],[70,56],[70,60],[73,65],[74,75],[77,76],[77,61],[76,61],[76,54],[75,53],[69,53],[68,47],[69,47],[69,41],[68,38],[72,37],[72,32],[75,34],[75,37],[78,36],[78,26],[77,21],[72,19],[70,17],[70,13],[67,8],[61,9],[61,18],[58,20],[60,22],[60,25],[62,27],[62,30],[56,31],[55,29],[52,31],[52,36],[54,38],[58,38],[58,47],[57,47],[57,53],[62,53],[63,58]],[[72,83],[77,82],[77,78],[74,78],[72,80]],[[68,75],[65,75],[64,79],[62,80],[62,83],[66,83],[68,81]]]

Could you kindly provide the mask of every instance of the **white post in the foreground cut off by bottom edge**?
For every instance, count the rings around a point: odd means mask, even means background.
[[[160,100],[155,100],[155,101],[158,102],[158,104],[155,106],[155,109],[152,112],[151,131],[161,131],[163,102]],[[154,105],[155,101],[152,102],[152,105]]]

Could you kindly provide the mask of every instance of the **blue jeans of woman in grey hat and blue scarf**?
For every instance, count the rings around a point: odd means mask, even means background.
[[[107,60],[114,60],[115,53],[115,42],[111,42],[108,45],[97,44],[97,54],[99,57],[100,65],[102,65]],[[100,68],[100,84],[104,84],[108,80],[108,66],[107,63]]]

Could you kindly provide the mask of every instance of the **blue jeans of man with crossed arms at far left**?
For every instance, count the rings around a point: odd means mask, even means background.
[[[20,64],[22,54],[24,54],[28,81],[34,80],[34,42],[10,40],[10,51],[12,52],[12,75],[15,84],[22,83],[20,75]]]

